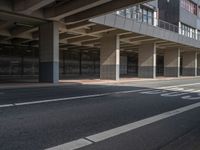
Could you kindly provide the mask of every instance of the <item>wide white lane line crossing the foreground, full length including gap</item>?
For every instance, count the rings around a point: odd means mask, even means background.
[[[152,116],[152,117],[149,117],[149,118],[137,121],[137,122],[126,124],[126,125],[123,125],[123,126],[111,129],[111,130],[107,130],[107,131],[104,131],[104,132],[101,132],[101,133],[97,133],[97,134],[94,134],[94,135],[91,135],[91,136],[88,136],[88,137],[85,137],[85,138],[81,138],[79,140],[82,140],[82,139],[87,140],[88,139],[87,141],[91,142],[90,143],[90,145],[91,145],[91,144],[93,144],[92,142],[94,142],[94,143],[100,142],[100,141],[118,136],[120,134],[130,132],[130,131],[135,130],[137,128],[140,128],[140,127],[161,121],[163,119],[167,119],[167,118],[170,118],[172,116],[176,116],[178,114],[187,112],[189,110],[192,110],[192,109],[195,109],[195,108],[198,108],[198,107],[200,107],[200,102],[192,104],[192,105],[188,105],[188,106],[185,106],[185,107],[181,107],[181,108],[178,108],[178,109],[175,109],[175,110],[172,110],[172,111],[168,111],[168,112],[156,115],[156,116]],[[76,146],[78,148],[81,148],[77,143],[77,141],[79,141],[79,140],[75,140],[75,141],[72,141],[72,142],[69,142],[69,143],[65,143],[63,145],[53,147],[53,148],[49,148],[49,149],[46,149],[46,150],[75,150],[75,149],[77,149]],[[71,147],[71,143],[75,144],[74,147]],[[86,141],[85,141],[85,145],[83,144],[82,147],[85,147],[85,146],[87,146]],[[59,148],[59,149],[57,149],[57,148]]]

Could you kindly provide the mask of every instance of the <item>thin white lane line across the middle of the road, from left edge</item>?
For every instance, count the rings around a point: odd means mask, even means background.
[[[58,99],[38,100],[38,101],[23,102],[23,103],[3,104],[3,105],[0,105],[0,108],[33,105],[33,104],[42,104],[42,103],[50,103],[50,102],[59,102],[59,101],[68,101],[68,100],[76,100],[76,99],[84,99],[84,98],[102,97],[102,96],[108,96],[108,95],[112,95],[112,94],[135,93],[135,92],[141,92],[141,91],[145,91],[145,90],[148,90],[148,89],[109,92],[109,93],[103,93],[103,94],[93,94],[93,95],[75,96],[75,97],[58,98]]]

